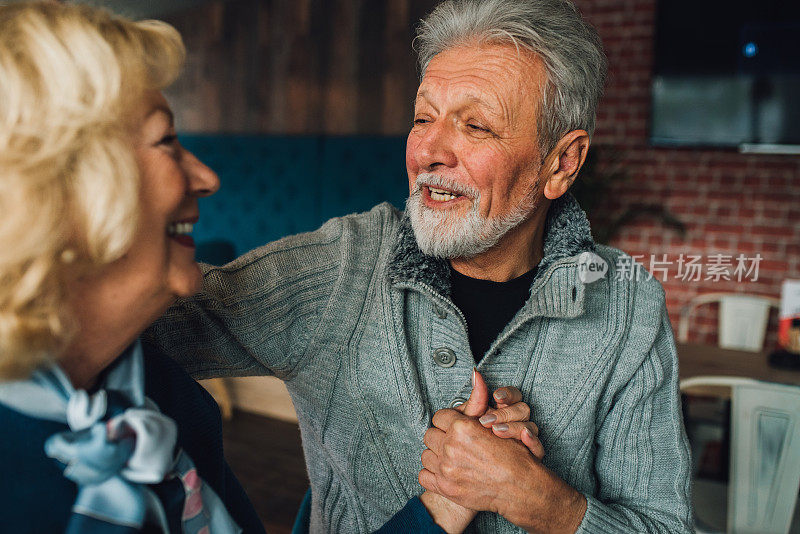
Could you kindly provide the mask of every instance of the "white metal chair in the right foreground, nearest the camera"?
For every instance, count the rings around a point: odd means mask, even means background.
[[[800,488],[800,387],[734,377],[681,380],[682,392],[708,386],[732,389],[726,532],[786,534]]]

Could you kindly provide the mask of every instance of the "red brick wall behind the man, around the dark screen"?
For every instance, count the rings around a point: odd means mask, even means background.
[[[665,0],[668,1],[668,0]],[[778,296],[785,278],[800,278],[800,157],[739,154],[734,150],[668,149],[648,145],[655,0],[576,0],[594,24],[609,59],[609,82],[600,106],[595,143],[608,145],[628,174],[616,182],[603,210],[615,216],[633,204],[665,205],[687,226],[685,239],[659,221],[626,225],[612,245],[630,254],[676,263],[663,282],[677,327],[683,304],[697,294],[732,291]],[[675,279],[681,254],[760,253],[758,279]],[[735,263],[735,261],[734,261]],[[706,277],[703,273],[702,278]],[[661,278],[661,277],[659,277]],[[767,346],[775,340],[772,313]],[[716,342],[716,310],[696,312],[690,340]]]

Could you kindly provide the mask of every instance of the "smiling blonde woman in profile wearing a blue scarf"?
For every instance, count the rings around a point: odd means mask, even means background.
[[[183,58],[164,23],[0,6],[3,532],[263,532],[213,401],[137,341],[200,287],[219,186],[159,92]]]

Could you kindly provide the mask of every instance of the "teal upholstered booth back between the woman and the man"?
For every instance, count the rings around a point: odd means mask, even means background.
[[[198,259],[226,261],[408,195],[405,137],[182,135],[222,186],[200,202]],[[232,245],[232,248],[230,247]]]

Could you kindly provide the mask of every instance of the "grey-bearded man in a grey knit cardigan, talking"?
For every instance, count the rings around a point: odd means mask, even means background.
[[[417,45],[405,213],[210,268],[153,338],[197,377],[285,380],[314,532],[372,531],[423,488],[448,531],[689,531],[663,290],[581,272],[622,254],[567,193],[605,77],[596,33],[568,0],[447,0]],[[449,409],[474,367],[523,393],[543,461]]]

